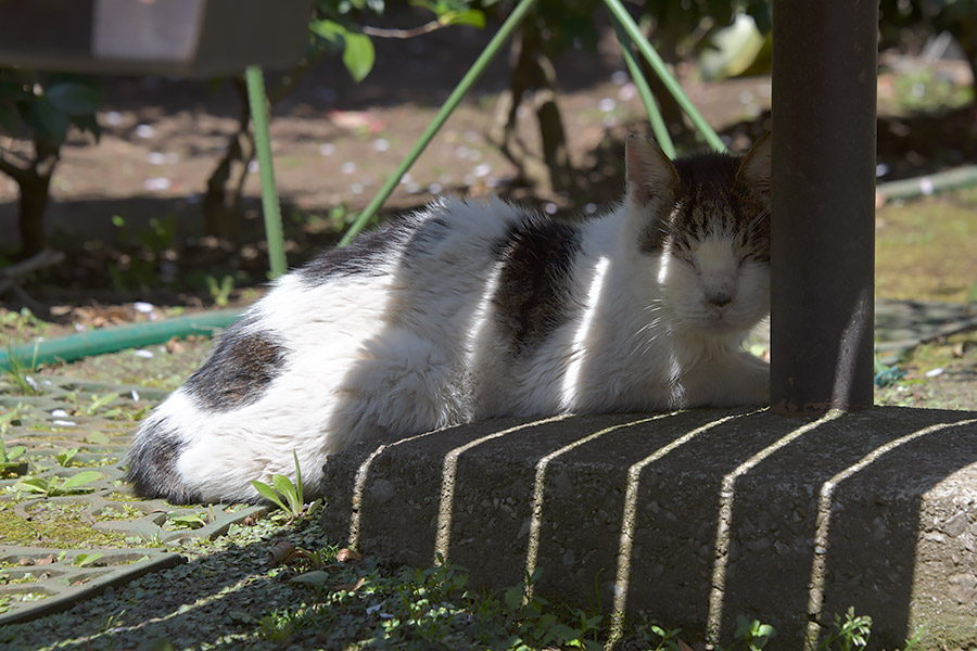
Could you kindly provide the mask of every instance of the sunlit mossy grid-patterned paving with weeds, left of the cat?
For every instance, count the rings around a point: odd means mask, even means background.
[[[0,626],[65,610],[147,572],[173,566],[183,558],[154,548],[195,537],[213,539],[266,510],[175,507],[132,495],[122,465],[134,419],[165,392],[71,378],[38,382],[43,392],[39,396],[0,395],[0,413],[13,412],[4,445],[8,450],[27,448],[27,462],[0,478],[0,490],[20,486],[21,494],[21,499],[16,493],[0,494]],[[62,465],[56,457],[73,449],[77,451]],[[25,481],[38,481],[35,486],[47,483],[54,493],[85,472],[99,477],[79,485],[78,494],[43,496],[23,487]],[[46,515],[38,509],[50,511],[47,518],[54,526],[66,528],[71,520],[110,535],[97,537],[96,545],[81,539],[51,547],[43,537],[41,546],[9,544],[16,533],[13,527],[22,529],[21,524],[45,536],[40,522]],[[101,556],[79,559],[79,553]]]

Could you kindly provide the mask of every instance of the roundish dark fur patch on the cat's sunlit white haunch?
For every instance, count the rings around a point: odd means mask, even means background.
[[[257,401],[284,369],[288,348],[267,332],[245,332],[245,317],[228,328],[183,387],[202,408],[230,411]]]

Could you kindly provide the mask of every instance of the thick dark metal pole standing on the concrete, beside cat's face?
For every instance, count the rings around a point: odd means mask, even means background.
[[[771,404],[872,406],[878,3],[773,4]]]

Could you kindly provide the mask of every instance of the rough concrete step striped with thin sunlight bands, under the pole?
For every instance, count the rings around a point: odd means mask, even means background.
[[[333,539],[503,587],[801,649],[853,605],[872,647],[977,646],[977,412],[502,419],[331,458]],[[956,644],[956,646],[954,646]]]

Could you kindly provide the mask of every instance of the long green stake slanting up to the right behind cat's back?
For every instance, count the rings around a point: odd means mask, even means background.
[[[367,221],[377,214],[377,210],[380,209],[380,206],[383,205],[391,194],[393,194],[394,188],[397,187],[397,183],[401,181],[401,177],[403,177],[410,166],[414,165],[414,162],[417,161],[417,157],[420,156],[421,152],[424,151],[424,148],[431,142],[431,139],[434,138],[434,135],[441,129],[444,125],[445,120],[447,120],[448,116],[455,111],[458,106],[458,103],[461,101],[461,98],[465,97],[465,93],[469,91],[469,89],[474,85],[479,77],[482,76],[482,73],[502,49],[503,44],[508,40],[509,36],[512,31],[522,24],[525,14],[529,13],[530,9],[532,9],[533,4],[536,0],[520,0],[519,4],[516,5],[516,9],[509,14],[509,17],[506,18],[506,22],[503,23],[502,28],[498,33],[492,38],[488,44],[485,47],[485,50],[479,55],[478,60],[475,60],[474,65],[469,68],[469,71],[461,78],[461,81],[458,82],[458,86],[452,91],[452,94],[448,95],[448,99],[445,100],[444,104],[441,106],[441,110],[437,112],[437,115],[434,116],[434,119],[428,125],[427,130],[421,135],[420,139],[417,141],[417,144],[414,145],[414,149],[407,154],[407,157],[401,162],[401,166],[397,167],[396,171],[394,171],[388,179],[383,187],[380,189],[380,192],[373,197],[373,200],[364,208],[363,213],[356,218],[352,225],[350,225],[350,229],[343,235],[343,239],[340,240],[340,246],[345,246],[350,243],[350,241],[355,238],[359,231],[363,230],[363,227],[366,226]]]

